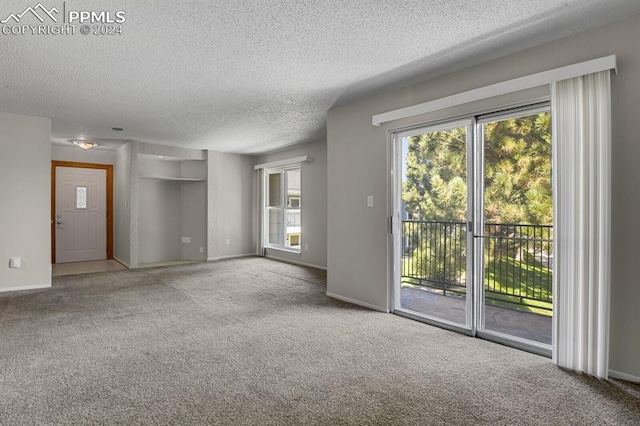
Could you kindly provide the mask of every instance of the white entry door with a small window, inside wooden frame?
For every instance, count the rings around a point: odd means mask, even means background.
[[[56,167],[56,263],[107,258],[107,172]]]

